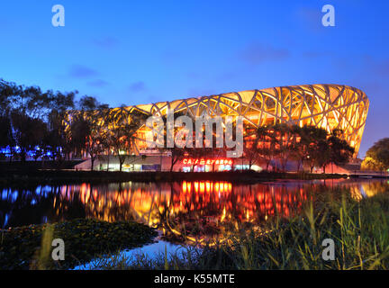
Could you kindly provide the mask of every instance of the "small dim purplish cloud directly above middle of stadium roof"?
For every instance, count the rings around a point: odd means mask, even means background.
[[[249,64],[261,64],[289,58],[289,51],[262,43],[251,43],[240,52],[240,58]]]

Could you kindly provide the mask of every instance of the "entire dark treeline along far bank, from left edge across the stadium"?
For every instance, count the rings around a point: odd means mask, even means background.
[[[91,96],[77,101],[76,95],[77,91],[44,92],[38,86],[0,79],[0,159],[24,162],[31,157],[61,162],[89,157],[93,170],[97,157],[104,155],[109,163],[110,155],[114,155],[122,170],[126,158],[140,152],[135,145],[137,131],[149,115],[124,106],[110,109]],[[278,163],[279,170],[286,171],[287,163],[293,160],[297,171],[306,167],[312,172],[314,166],[320,166],[325,172],[330,163],[347,163],[354,154],[354,148],[342,139],[341,130],[329,133],[315,126],[285,123],[254,128],[246,123],[244,134],[243,157],[249,160],[249,168],[257,164],[268,170]],[[213,143],[215,137],[213,133]],[[183,157],[223,157],[226,148],[162,150],[171,155],[173,171]]]

